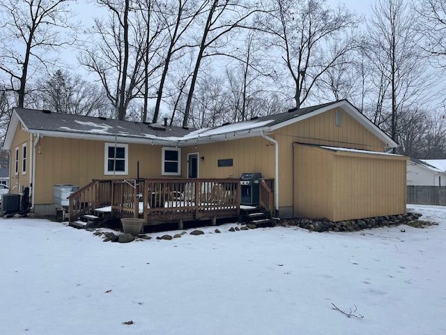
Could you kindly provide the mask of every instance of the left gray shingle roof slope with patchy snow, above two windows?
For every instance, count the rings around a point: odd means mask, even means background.
[[[59,114],[15,108],[20,119],[29,129],[36,131],[61,131],[64,133],[85,133],[95,135],[115,135],[125,137],[182,137],[192,130],[169,127],[165,131],[151,128],[149,124],[134,121],[118,121],[100,117],[84,117],[72,114]]]

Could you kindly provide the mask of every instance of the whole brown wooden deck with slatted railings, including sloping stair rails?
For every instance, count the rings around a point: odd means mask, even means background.
[[[261,207],[272,213],[271,179],[261,182]],[[145,225],[194,220],[215,220],[240,215],[239,179],[107,179],[93,180],[72,193],[69,218],[100,207],[112,216],[144,218]]]

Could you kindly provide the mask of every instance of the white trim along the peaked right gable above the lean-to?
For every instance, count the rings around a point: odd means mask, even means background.
[[[381,131],[380,128],[378,128],[378,126],[373,124],[373,122],[371,122],[369,119],[367,119],[367,117],[361,114],[351,103],[348,103],[348,101],[339,101],[337,103],[333,103],[332,105],[328,105],[326,107],[319,108],[318,110],[314,110],[314,112],[309,112],[307,114],[301,115],[300,117],[294,117],[293,119],[289,119],[279,124],[275,124],[274,126],[270,127],[270,131],[275,131],[276,129],[289,126],[290,124],[295,124],[296,122],[308,119],[309,117],[314,117],[318,114],[322,114],[324,112],[327,112],[328,110],[332,110],[338,107],[343,108],[351,117],[353,117],[353,119],[362,124],[362,126],[371,131],[371,133],[374,133],[376,137],[378,137],[385,144],[387,144],[387,147],[390,148],[398,147],[397,142],[394,142],[394,140],[392,140],[390,136]]]

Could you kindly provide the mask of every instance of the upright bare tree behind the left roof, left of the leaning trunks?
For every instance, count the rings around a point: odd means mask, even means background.
[[[150,22],[147,15],[151,12],[147,12],[148,8],[138,10],[141,6],[131,0],[97,1],[107,8],[109,16],[105,21],[95,20],[93,29],[89,31],[93,40],[84,45],[79,61],[99,77],[107,98],[116,110],[116,118],[125,119],[130,102],[141,92],[141,82],[148,82],[148,77],[160,67],[156,63],[147,70],[145,68],[152,60],[148,50],[157,53],[153,45],[146,44],[153,41],[147,35],[146,25]],[[141,15],[145,15],[145,19]]]

